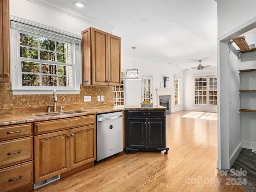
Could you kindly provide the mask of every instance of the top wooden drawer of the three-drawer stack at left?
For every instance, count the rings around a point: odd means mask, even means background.
[[[0,141],[32,136],[32,123],[2,126],[0,128]]]

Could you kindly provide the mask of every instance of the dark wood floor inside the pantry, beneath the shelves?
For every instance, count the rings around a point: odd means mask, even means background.
[[[243,148],[230,171],[231,183],[241,183],[246,192],[256,192],[256,153]]]

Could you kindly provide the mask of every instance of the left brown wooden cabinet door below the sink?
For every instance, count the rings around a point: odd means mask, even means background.
[[[69,130],[34,136],[35,183],[70,170]]]

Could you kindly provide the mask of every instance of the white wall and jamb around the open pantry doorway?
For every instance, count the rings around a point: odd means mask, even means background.
[[[240,152],[241,128],[238,128],[237,89],[239,61],[228,53],[228,40],[256,27],[256,1],[219,0],[218,10],[218,162],[220,169],[230,169]],[[239,13],[238,13],[239,11]],[[236,85],[229,85],[235,84]],[[231,96],[231,98],[230,98]],[[230,104],[231,101],[231,104]]]

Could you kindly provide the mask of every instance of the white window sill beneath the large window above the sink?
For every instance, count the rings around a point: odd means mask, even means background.
[[[40,89],[31,89],[31,90],[20,90],[12,89],[13,95],[50,95],[53,94],[53,90],[40,90]],[[57,94],[80,94],[80,90],[57,90]]]

